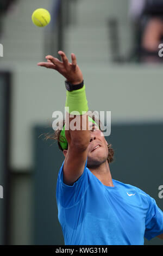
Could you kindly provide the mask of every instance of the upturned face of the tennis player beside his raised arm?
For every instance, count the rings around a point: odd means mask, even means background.
[[[89,122],[91,139],[87,154],[87,167],[95,167],[104,163],[108,158],[108,143],[98,126]]]

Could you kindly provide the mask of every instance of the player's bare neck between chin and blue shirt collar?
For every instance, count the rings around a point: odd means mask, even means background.
[[[91,173],[99,179],[103,185],[114,187],[112,183],[112,177],[110,173],[109,163],[106,160],[104,163],[100,164],[99,166],[92,166],[89,167]]]

